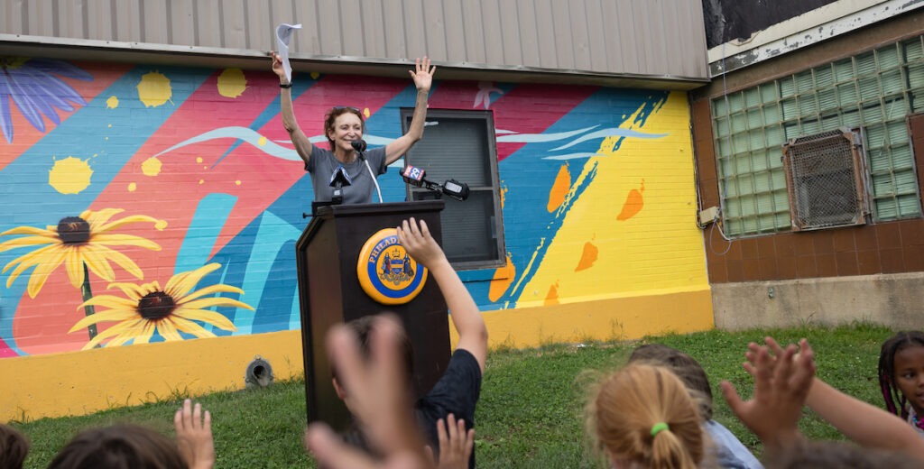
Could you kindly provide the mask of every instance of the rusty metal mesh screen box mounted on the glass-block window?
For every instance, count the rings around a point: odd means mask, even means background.
[[[862,139],[850,128],[792,138],[783,146],[793,229],[866,222]]]

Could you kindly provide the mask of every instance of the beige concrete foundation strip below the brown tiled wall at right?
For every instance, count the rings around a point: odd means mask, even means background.
[[[715,326],[726,330],[867,320],[924,328],[924,272],[712,285]]]

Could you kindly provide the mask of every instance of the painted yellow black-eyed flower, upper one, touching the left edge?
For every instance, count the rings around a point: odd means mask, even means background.
[[[110,222],[110,220],[123,210],[104,209],[99,211],[85,210],[79,217],[65,217],[57,226],[49,225],[45,229],[32,226],[18,226],[0,236],[25,234],[14,239],[0,243],[0,252],[18,247],[39,247],[28,254],[13,259],[3,272],[16,266],[6,279],[6,288],[16,281],[23,271],[35,267],[29,279],[29,296],[34,298],[42,290],[48,276],[62,263],[67,268],[67,276],[75,288],[85,288],[84,300],[89,299],[89,279],[87,270],[99,277],[113,282],[116,273],[110,261],[118,264],[122,269],[138,279],[144,279],[144,274],[134,261],[112,247],[133,246],[144,247],[154,251],[161,250],[160,245],[132,234],[113,233],[116,228],[134,222],[152,222],[159,229],[163,229],[166,222],[146,215],[130,215]]]

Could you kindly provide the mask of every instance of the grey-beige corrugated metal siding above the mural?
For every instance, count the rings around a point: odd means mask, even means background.
[[[707,77],[700,0],[0,0],[0,32],[293,57]]]

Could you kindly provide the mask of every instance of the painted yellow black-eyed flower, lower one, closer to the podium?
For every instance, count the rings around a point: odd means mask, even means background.
[[[91,341],[83,346],[83,350],[87,350],[100,345],[122,345],[130,340],[133,340],[133,343],[148,343],[155,331],[164,337],[165,341],[182,341],[180,332],[196,337],[215,336],[212,331],[207,331],[196,321],[225,331],[237,331],[225,316],[205,308],[243,307],[252,311],[253,307],[225,296],[203,296],[218,293],[243,295],[243,290],[218,283],[192,291],[203,277],[220,267],[221,264],[213,262],[195,271],[177,273],[167,281],[163,289],[157,282],[140,285],[112,283],[109,288],[117,288],[125,296],[97,295],[84,302],[80,307],[96,306],[109,309],[80,319],[70,332],[100,322],[118,321],[116,325],[92,337]]]

